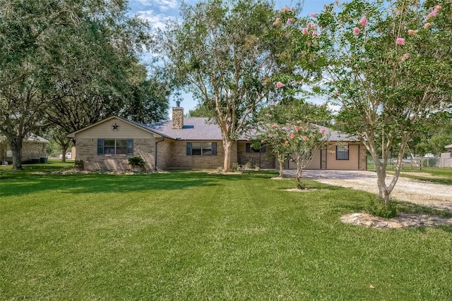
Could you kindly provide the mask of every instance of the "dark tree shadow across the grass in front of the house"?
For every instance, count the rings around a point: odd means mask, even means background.
[[[274,174],[274,173],[273,173]],[[135,192],[148,190],[182,190],[191,187],[230,185],[227,182],[251,178],[270,178],[269,173],[222,175],[193,171],[172,171],[134,175],[102,173],[52,174],[30,171],[2,173],[2,197],[28,195],[34,192],[67,190],[70,193]]]

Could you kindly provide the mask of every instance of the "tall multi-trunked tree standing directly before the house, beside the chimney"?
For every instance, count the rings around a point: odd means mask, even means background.
[[[268,1],[204,0],[182,4],[181,14],[182,23],[165,32],[167,67],[212,112],[222,133],[223,171],[229,171],[232,142],[274,87],[285,39],[274,35]]]

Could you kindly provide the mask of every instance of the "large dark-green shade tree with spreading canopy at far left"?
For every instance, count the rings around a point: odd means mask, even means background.
[[[14,170],[22,168],[23,139],[71,105],[69,97],[80,96],[76,109],[96,111],[93,99],[120,107],[126,71],[148,39],[147,25],[126,10],[125,0],[0,0],[0,131]]]

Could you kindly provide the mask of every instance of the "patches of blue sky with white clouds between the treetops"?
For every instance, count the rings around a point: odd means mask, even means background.
[[[196,0],[186,0],[189,4],[195,4]],[[329,4],[333,0],[305,0],[302,16],[307,16],[309,13],[320,13],[323,4]],[[129,0],[132,15],[140,16],[149,21],[152,27],[165,27],[165,22],[168,19],[180,18],[179,7],[182,0]],[[297,1],[290,0],[275,0],[275,8],[283,8],[285,6],[294,6]],[[152,59],[151,56],[143,56],[143,61]],[[181,106],[184,111],[188,112],[194,109],[196,101],[190,94],[184,94],[184,99]],[[169,106],[175,106],[174,100],[170,101]]]

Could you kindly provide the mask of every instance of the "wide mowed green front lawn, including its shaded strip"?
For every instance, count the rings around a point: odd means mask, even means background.
[[[0,300],[452,300],[452,227],[340,222],[275,173],[2,171]]]

